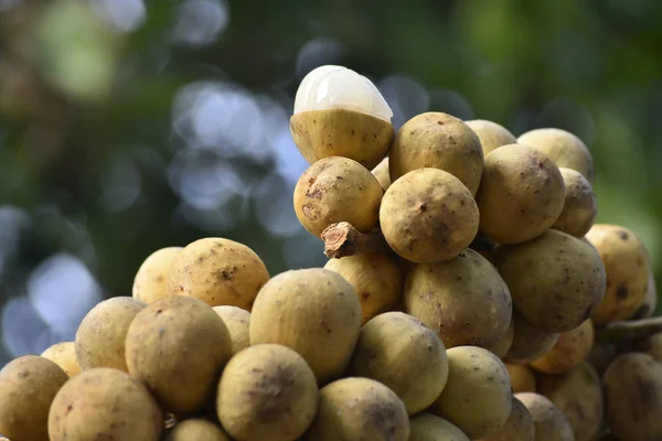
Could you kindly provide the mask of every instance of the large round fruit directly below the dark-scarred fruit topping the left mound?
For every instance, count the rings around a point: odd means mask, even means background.
[[[232,340],[223,320],[197,299],[158,300],[136,315],[127,333],[129,373],[175,415],[193,415],[213,400],[231,356]]]

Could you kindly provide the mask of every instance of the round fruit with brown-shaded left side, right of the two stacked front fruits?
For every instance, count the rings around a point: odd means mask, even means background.
[[[554,162],[520,144],[485,158],[480,190],[480,232],[499,244],[521,244],[548,229],[560,215],[563,176]]]

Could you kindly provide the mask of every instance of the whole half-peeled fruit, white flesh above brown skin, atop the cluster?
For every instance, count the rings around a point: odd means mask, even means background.
[[[374,84],[342,66],[320,66],[299,85],[290,131],[309,163],[345,157],[372,169],[393,140],[393,111]]]

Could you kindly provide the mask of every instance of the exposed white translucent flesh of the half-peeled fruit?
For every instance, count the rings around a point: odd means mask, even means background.
[[[297,90],[295,114],[308,110],[348,109],[391,122],[393,111],[375,85],[342,66],[311,71]]]

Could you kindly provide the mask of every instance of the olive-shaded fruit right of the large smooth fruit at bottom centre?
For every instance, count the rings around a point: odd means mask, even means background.
[[[417,319],[387,312],[363,325],[348,372],[389,387],[412,416],[428,408],[444,390],[446,347],[437,333]]]

